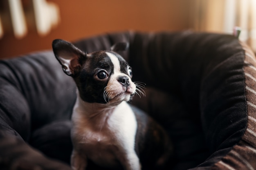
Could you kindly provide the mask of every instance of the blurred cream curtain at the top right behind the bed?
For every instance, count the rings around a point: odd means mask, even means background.
[[[232,34],[256,52],[256,0],[191,0],[190,25],[195,31]]]

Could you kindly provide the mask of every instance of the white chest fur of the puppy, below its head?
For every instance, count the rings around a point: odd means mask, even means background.
[[[106,107],[78,98],[72,122],[73,154],[110,168],[121,163],[129,170],[140,169],[134,150],[137,121],[127,102]]]

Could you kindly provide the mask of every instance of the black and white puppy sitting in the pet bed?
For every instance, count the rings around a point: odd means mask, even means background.
[[[131,80],[128,63],[114,52],[125,50],[127,44],[89,54],[61,39],[52,47],[78,89],[72,113],[72,168],[85,170],[88,160],[110,169],[163,168],[172,150],[168,135],[127,103],[141,91]]]

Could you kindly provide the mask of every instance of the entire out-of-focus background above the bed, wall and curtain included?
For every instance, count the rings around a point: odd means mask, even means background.
[[[256,51],[256,0],[0,0],[0,59],[120,31],[232,34]]]

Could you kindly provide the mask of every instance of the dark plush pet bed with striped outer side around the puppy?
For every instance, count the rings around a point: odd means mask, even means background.
[[[146,83],[146,97],[131,103],[168,131],[174,170],[256,168],[256,59],[245,44],[191,31],[127,31],[74,44],[89,53],[120,41],[130,43],[120,54],[133,81]],[[0,68],[0,169],[70,169],[72,78],[52,50],[2,60]]]

